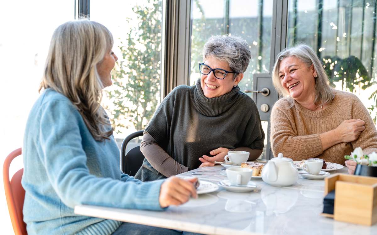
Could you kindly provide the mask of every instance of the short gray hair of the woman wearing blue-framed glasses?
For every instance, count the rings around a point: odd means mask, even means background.
[[[226,61],[231,70],[245,73],[251,58],[247,42],[236,35],[211,36],[204,44],[203,59],[214,56],[220,61]],[[237,74],[234,74],[236,77]]]

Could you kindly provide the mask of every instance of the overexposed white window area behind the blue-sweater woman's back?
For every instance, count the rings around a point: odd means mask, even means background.
[[[74,20],[75,2],[66,0],[2,1],[0,3],[0,158],[22,147],[29,111],[38,99],[39,83],[55,28]],[[10,175],[22,168],[22,158],[11,165]],[[2,176],[0,176],[0,181]],[[2,234],[14,234],[0,187]]]

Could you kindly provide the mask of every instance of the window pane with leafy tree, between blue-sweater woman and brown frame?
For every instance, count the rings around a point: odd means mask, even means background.
[[[104,106],[124,138],[145,128],[161,99],[161,0],[91,1],[90,20],[109,28],[118,62]]]

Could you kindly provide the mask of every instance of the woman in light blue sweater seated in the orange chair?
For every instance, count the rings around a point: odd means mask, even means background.
[[[163,210],[196,197],[196,179],[143,183],[120,170],[119,149],[101,90],[118,59],[102,24],[69,21],[54,32],[23,144],[23,219],[28,234],[182,232],[74,214],[80,204]],[[185,233],[185,232],[184,232]]]

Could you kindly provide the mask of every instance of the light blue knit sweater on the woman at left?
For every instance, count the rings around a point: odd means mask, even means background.
[[[162,181],[120,170],[114,137],[95,141],[72,102],[46,89],[29,114],[23,145],[23,207],[28,234],[111,234],[121,224],[74,214],[80,204],[162,210]]]

